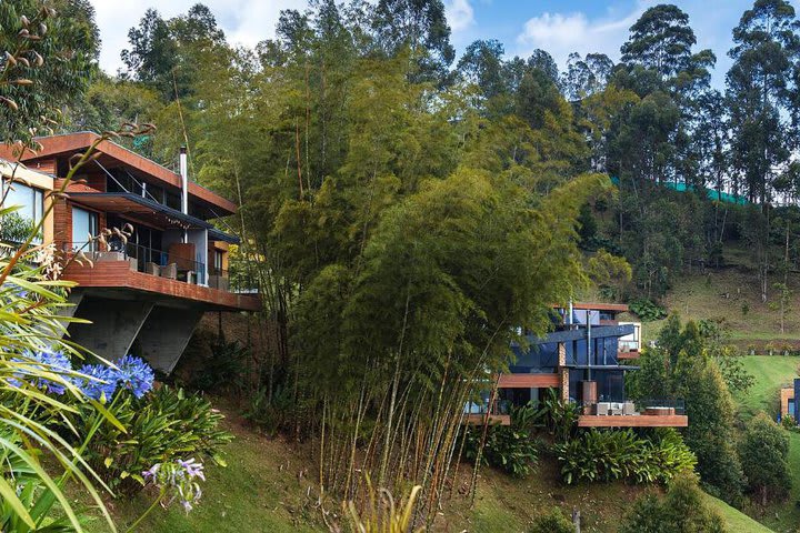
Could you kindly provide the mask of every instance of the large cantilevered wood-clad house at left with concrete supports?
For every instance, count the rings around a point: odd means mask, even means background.
[[[70,159],[98,139],[91,132],[40,138],[41,150],[21,158],[0,147],[3,181],[14,175],[6,203],[38,220]],[[153,368],[169,373],[203,313],[260,309],[257,295],[231,290],[228,252],[238,239],[209,222],[233,214],[237,205],[188,180],[186,153],[180,173],[107,140],[97,153],[44,224],[44,242],[54,242],[68,259],[83,252],[93,263],[72,261],[62,274],[78,283],[69,312],[92,322],[71,323],[68,333],[110,360],[136,345]],[[8,162],[18,158],[26,169]],[[103,228],[128,228],[130,235],[127,242],[90,239]]]

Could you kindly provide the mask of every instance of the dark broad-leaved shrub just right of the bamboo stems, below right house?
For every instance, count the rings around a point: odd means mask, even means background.
[[[534,421],[540,416],[532,405],[511,412],[511,425],[491,425],[487,429],[486,442],[480,453],[481,461],[501,469],[514,477],[524,477],[539,462],[539,445],[531,436]],[[479,455],[483,429],[467,430],[464,454],[476,461]]]

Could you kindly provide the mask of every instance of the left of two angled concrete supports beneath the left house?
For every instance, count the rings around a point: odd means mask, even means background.
[[[106,360],[120,359],[128,354],[152,308],[149,302],[86,296],[74,316],[91,324],[70,324],[70,340]]]

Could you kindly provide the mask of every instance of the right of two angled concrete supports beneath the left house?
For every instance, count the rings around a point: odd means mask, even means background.
[[[202,315],[196,309],[153,308],[138,338],[148,363],[166,374],[172,372]]]

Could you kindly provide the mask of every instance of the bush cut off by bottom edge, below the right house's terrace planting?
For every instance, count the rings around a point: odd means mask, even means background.
[[[649,493],[636,501],[620,533],[724,533],[722,517],[709,509],[692,475],[680,475],[667,495]]]

